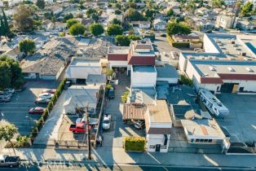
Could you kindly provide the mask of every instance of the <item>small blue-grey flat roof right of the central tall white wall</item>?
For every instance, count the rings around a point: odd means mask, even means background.
[[[178,72],[174,66],[170,64],[164,64],[163,66],[157,66],[157,77],[160,78],[178,78]]]

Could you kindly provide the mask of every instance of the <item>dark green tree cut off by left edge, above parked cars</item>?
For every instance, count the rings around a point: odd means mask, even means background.
[[[11,71],[6,61],[0,61],[0,90],[11,86]]]

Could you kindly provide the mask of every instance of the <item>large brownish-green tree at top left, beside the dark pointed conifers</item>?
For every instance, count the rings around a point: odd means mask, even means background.
[[[21,32],[30,32],[34,29],[33,17],[29,7],[24,5],[18,6],[13,15],[13,20],[15,27]]]

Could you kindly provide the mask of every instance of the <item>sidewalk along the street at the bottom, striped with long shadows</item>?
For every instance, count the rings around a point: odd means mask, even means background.
[[[12,149],[9,149],[13,155]],[[8,149],[3,149],[2,153],[9,154]],[[17,149],[16,154],[22,160],[44,161],[44,160],[66,160],[80,161],[84,160],[87,151],[84,150],[55,150],[55,149]],[[92,151],[94,160],[99,164],[162,164],[172,166],[189,167],[236,167],[256,169],[256,156],[232,156],[232,155],[201,155],[191,153],[137,153],[123,150],[121,147],[98,147]]]

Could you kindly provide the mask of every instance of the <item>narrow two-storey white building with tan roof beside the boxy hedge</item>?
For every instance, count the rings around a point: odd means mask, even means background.
[[[165,100],[157,100],[156,105],[148,106],[145,113],[147,151],[167,152],[170,144],[172,121]]]

